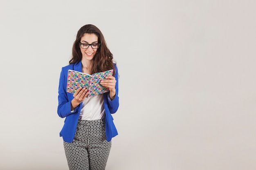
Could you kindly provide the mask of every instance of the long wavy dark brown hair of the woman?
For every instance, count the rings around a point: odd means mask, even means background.
[[[71,57],[69,63],[74,64],[74,63],[82,60],[82,53],[80,50],[79,43],[85,33],[97,35],[98,43],[101,44],[92,59],[91,73],[93,74],[93,73],[98,73],[98,72],[114,69],[113,55],[107,47],[105,38],[104,38],[103,34],[101,33],[101,31],[96,26],[94,26],[92,24],[87,24],[87,25],[82,26],[79,29],[79,31],[77,32],[76,40],[74,41],[73,47],[72,47],[72,57]],[[115,75],[115,69],[114,69],[113,75]]]

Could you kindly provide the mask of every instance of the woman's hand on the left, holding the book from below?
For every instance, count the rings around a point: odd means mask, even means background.
[[[88,90],[86,88],[81,88],[81,87],[79,87],[76,90],[76,92],[73,95],[74,99],[72,99],[71,101],[71,110],[76,108],[81,102],[84,101],[85,97],[89,95],[87,91]]]

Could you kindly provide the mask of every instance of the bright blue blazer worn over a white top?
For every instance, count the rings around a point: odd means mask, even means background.
[[[106,137],[107,141],[111,141],[112,137],[115,137],[117,133],[117,129],[115,127],[115,124],[113,122],[112,113],[116,113],[117,109],[119,107],[119,97],[118,97],[118,71],[117,71],[117,65],[115,63],[115,75],[116,78],[116,95],[115,99],[112,101],[108,97],[108,93],[104,93],[104,108],[105,108],[105,114],[106,114]],[[65,117],[63,128],[60,132],[60,137],[63,137],[63,140],[71,143],[74,139],[75,133],[76,133],[76,126],[79,119],[79,115],[82,108],[82,103],[79,104],[74,109],[74,112],[71,112],[71,100],[74,98],[72,93],[66,92],[67,87],[67,71],[75,70],[82,72],[82,63],[76,62],[75,64],[70,64],[68,66],[65,66],[61,70],[60,75],[60,82],[58,87],[58,115],[61,118]]]

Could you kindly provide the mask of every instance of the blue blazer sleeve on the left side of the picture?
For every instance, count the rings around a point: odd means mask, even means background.
[[[77,113],[77,107],[74,110],[71,110],[71,100],[69,100],[66,92],[67,87],[67,71],[66,69],[62,68],[59,87],[58,87],[58,109],[57,113],[59,117],[64,118],[68,115]]]

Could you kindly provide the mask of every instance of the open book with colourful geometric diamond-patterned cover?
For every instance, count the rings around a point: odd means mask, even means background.
[[[107,76],[113,74],[113,69],[103,71],[100,73],[94,73],[92,75],[81,73],[79,71],[68,70],[67,71],[67,92],[75,93],[79,87],[86,88],[89,91],[90,96],[100,95],[108,92],[108,88],[105,88],[100,84],[101,80],[105,80]]]

